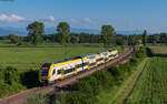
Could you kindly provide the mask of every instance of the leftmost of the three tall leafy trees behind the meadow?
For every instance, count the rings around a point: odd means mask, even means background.
[[[32,44],[36,45],[38,42],[42,41],[45,25],[42,22],[35,21],[27,27],[27,31],[29,35],[29,41],[31,41]]]

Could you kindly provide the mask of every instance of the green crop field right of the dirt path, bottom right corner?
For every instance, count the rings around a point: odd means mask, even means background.
[[[167,59],[153,58],[126,104],[167,104]]]

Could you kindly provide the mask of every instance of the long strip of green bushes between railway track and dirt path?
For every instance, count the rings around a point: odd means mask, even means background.
[[[128,63],[111,66],[105,71],[100,70],[94,74],[77,81],[69,92],[60,92],[51,100],[51,104],[97,104],[100,101],[98,95],[101,92],[108,93],[115,86],[119,87],[124,81],[136,71],[139,62],[146,56],[145,48],[140,48],[134,59]],[[110,94],[115,93],[112,91]],[[33,95],[26,101],[26,104],[48,104],[49,98],[43,94]]]

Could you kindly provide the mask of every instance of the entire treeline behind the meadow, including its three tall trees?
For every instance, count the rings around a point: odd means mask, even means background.
[[[121,35],[117,34],[115,28],[110,24],[101,25],[100,34],[91,33],[71,33],[70,25],[67,22],[60,22],[56,27],[56,31],[52,34],[45,34],[45,24],[42,22],[35,21],[27,27],[27,37],[19,37],[14,33],[9,37],[0,37],[0,40],[10,39],[11,43],[21,45],[23,42],[31,43],[33,45],[40,43],[60,43],[67,45],[68,43],[104,43],[104,46],[114,45],[136,45],[147,43],[147,31],[143,34]]]

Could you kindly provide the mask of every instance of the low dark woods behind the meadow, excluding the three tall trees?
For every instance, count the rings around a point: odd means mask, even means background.
[[[14,43],[20,45],[21,43],[29,43],[29,37],[20,37],[18,38],[17,34],[10,34],[12,37],[0,37],[0,40],[10,40],[10,43]],[[14,37],[17,35],[17,37]],[[104,43],[102,37],[100,34],[91,34],[91,33],[70,33],[70,38],[68,39],[67,43]],[[20,40],[18,40],[20,39]],[[59,34],[43,34],[41,43],[59,43]],[[143,35],[135,34],[135,35],[122,35],[116,34],[114,35],[112,45],[137,45],[143,44]]]

